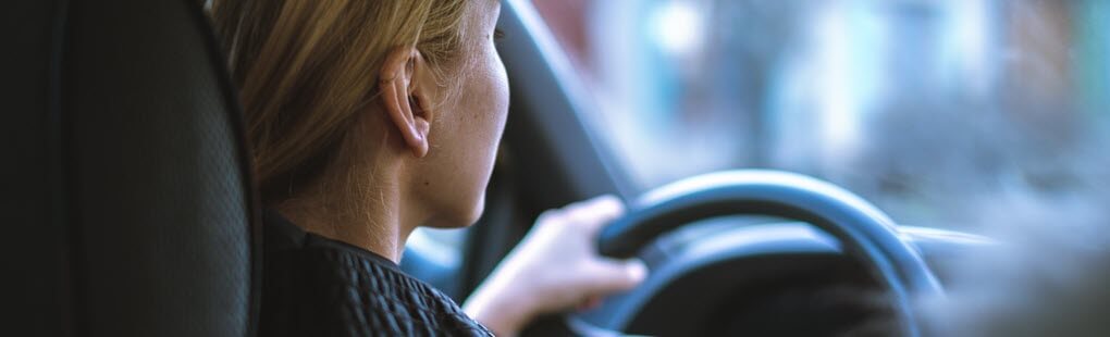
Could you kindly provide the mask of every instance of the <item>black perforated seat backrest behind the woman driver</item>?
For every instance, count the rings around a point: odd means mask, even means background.
[[[253,334],[249,155],[198,2],[4,2],[0,335]]]

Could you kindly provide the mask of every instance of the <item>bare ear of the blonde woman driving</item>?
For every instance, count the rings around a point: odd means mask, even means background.
[[[430,95],[435,85],[426,67],[415,48],[394,48],[382,64],[377,83],[386,114],[416,157],[427,155],[427,136],[432,132]]]

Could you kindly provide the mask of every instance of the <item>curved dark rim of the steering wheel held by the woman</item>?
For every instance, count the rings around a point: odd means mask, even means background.
[[[917,248],[894,222],[859,196],[813,177],[765,170],[710,173],[645,194],[623,218],[602,229],[601,254],[633,257],[659,235],[725,215],[771,215],[807,222],[837,238],[891,295],[905,336],[920,336],[916,298],[942,298],[944,289]],[[575,314],[568,326],[581,326]]]

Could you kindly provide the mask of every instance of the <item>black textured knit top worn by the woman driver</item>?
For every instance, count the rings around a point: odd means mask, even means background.
[[[450,297],[370,251],[264,217],[260,336],[492,336]]]

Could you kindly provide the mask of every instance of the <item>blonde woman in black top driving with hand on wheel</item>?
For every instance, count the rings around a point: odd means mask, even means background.
[[[498,1],[211,6],[268,207],[261,335],[514,335],[643,279],[591,248],[613,197],[541,216],[465,314],[397,268],[414,228],[482,212],[508,104]]]

